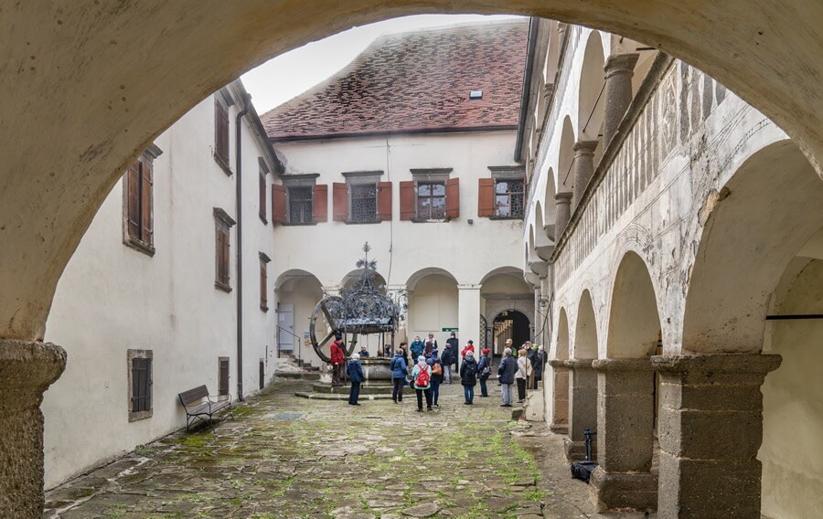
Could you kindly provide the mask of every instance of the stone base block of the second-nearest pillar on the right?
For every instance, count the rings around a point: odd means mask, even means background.
[[[592,472],[592,501],[597,512],[609,510],[657,510],[657,475],[649,472]]]

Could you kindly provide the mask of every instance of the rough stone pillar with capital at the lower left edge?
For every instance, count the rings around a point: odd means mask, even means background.
[[[43,393],[66,368],[55,344],[0,339],[0,517],[43,516]]]

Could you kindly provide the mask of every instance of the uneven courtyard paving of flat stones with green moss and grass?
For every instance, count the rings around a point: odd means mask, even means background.
[[[413,395],[360,407],[294,397],[307,386],[274,385],[216,434],[141,446],[47,493],[44,517],[597,515],[586,485],[569,478],[561,440],[511,421],[497,394],[465,406],[462,387],[443,386],[441,407],[417,413]]]

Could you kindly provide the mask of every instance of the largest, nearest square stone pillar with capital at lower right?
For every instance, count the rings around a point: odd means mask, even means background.
[[[760,387],[780,361],[756,354],[652,357],[661,379],[658,517],[760,517]]]

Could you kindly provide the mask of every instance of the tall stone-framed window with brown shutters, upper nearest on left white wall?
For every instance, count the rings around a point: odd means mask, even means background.
[[[149,257],[153,257],[155,255],[155,158],[159,157],[163,154],[163,151],[158,148],[154,143],[150,144],[148,148],[144,150],[140,156],[138,156],[134,163],[129,164],[129,167],[126,168],[125,172],[123,173],[123,244],[127,245],[128,247],[139,250],[143,252]],[[130,225],[130,214],[131,214],[131,194],[132,194],[132,187],[129,182],[129,170],[132,169],[134,164],[137,165],[137,195],[136,200],[139,205],[137,209],[137,220],[138,220],[138,235],[134,236],[132,234],[132,226]],[[144,188],[145,188],[145,173],[148,170],[149,174],[149,192],[148,196],[144,197]],[[144,207],[144,202],[147,202],[148,208]],[[148,217],[145,217],[144,212],[148,211]],[[146,229],[144,228],[144,223],[148,222],[148,230],[144,232]],[[148,239],[144,239],[143,237],[147,236]]]

